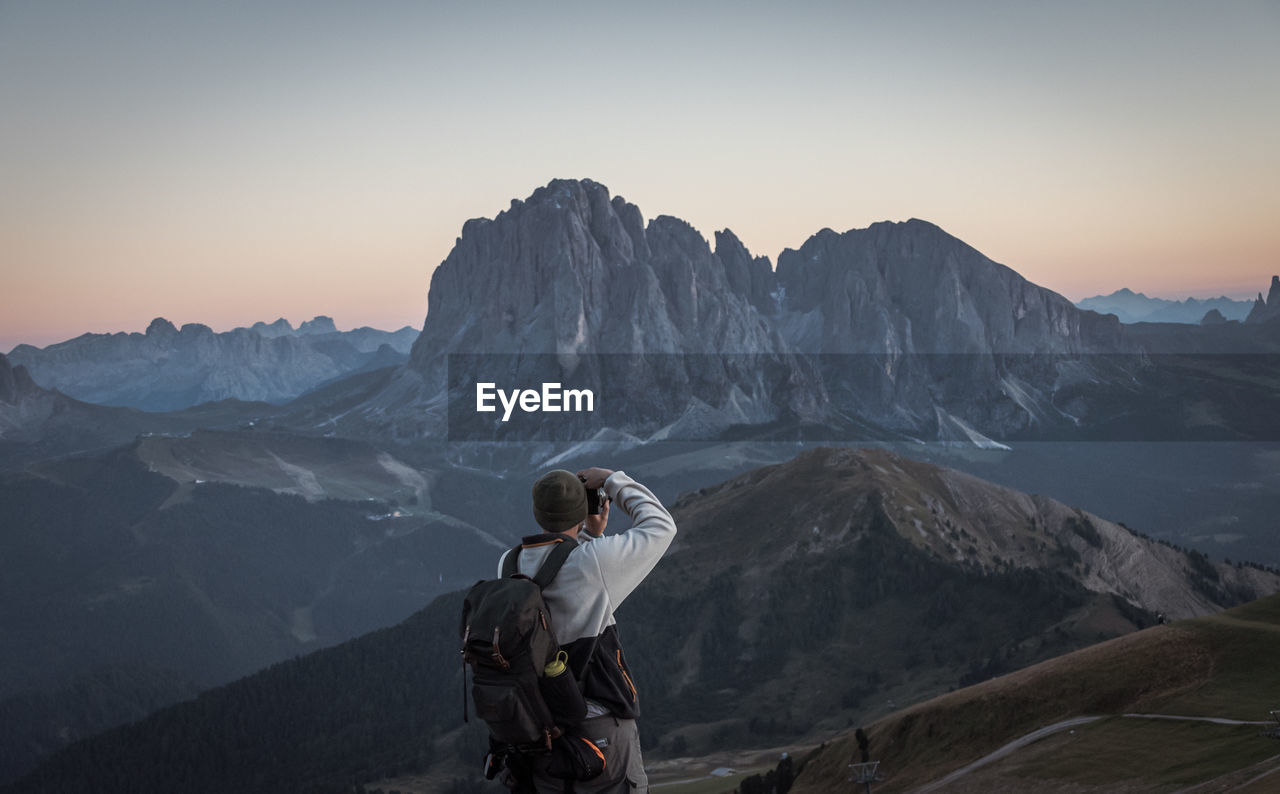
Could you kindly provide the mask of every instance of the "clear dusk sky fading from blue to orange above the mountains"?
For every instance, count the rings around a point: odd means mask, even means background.
[[[1280,273],[1280,1],[0,0],[0,351],[421,327],[553,178],[777,261],[922,218],[1071,300]]]

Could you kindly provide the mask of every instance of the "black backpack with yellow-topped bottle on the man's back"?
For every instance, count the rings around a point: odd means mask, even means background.
[[[557,722],[586,716],[586,702],[573,676],[564,670],[547,675],[561,658],[543,588],[559,572],[573,538],[553,540],[532,579],[516,572],[521,547],[508,552],[500,579],[477,581],[462,602],[463,689],[471,667],[471,699],[476,715],[489,726],[490,744],[518,753],[550,750],[561,736]],[[553,666],[563,667],[563,665]],[[462,718],[467,720],[463,692]]]

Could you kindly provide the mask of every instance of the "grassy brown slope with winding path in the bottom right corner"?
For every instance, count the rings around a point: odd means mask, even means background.
[[[867,726],[876,790],[1274,790],[1276,652],[1271,596],[941,695]],[[854,736],[826,744],[792,790],[847,791],[850,758]]]

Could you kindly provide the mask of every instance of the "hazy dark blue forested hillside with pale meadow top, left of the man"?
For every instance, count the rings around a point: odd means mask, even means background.
[[[0,780],[474,581],[511,537],[440,512],[438,488],[476,490],[361,442],[264,430],[0,474]]]

